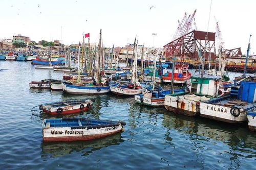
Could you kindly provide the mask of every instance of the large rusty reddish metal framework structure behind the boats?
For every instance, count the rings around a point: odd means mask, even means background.
[[[199,60],[200,54],[204,56],[204,46],[206,46],[205,61],[208,61],[209,57],[211,61],[215,60],[215,33],[194,30],[163,47],[165,58],[168,61],[175,55],[175,52],[176,56],[182,59]]]

